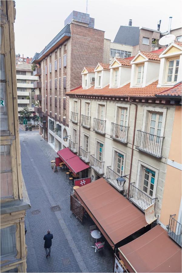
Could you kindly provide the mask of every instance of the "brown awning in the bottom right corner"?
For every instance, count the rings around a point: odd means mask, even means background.
[[[130,272],[181,272],[181,248],[160,225],[119,250]]]

